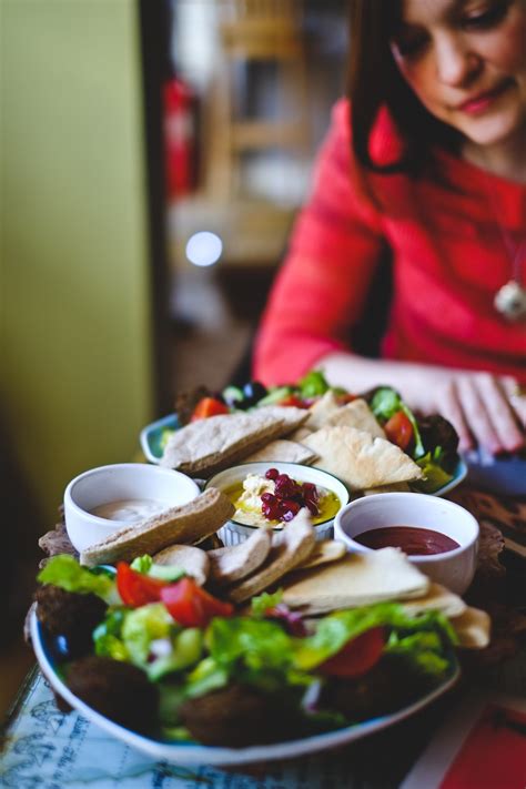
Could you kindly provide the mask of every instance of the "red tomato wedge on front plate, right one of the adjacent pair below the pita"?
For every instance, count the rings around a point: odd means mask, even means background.
[[[214,616],[230,616],[234,607],[204,591],[191,578],[161,589],[161,600],[183,627],[205,627]]]

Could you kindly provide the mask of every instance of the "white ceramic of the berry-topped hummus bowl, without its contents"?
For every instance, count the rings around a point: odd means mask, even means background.
[[[211,477],[205,488],[216,487],[220,490],[227,490],[232,486],[241,483],[247,474],[259,474],[264,476],[269,468],[277,468],[279,472],[287,474],[292,479],[297,482],[311,482],[318,487],[324,487],[326,490],[334,493],[340,499],[340,506],[343,507],[348,502],[348,490],[337,477],[323,472],[321,468],[312,468],[303,466],[300,463],[281,463],[281,462],[257,462],[257,463],[241,463],[232,468],[226,468],[215,476]],[[334,517],[316,524],[316,539],[328,539],[333,536]],[[225,545],[237,545],[247,539],[254,529],[259,526],[246,526],[235,520],[229,520],[219,532],[219,537]]]

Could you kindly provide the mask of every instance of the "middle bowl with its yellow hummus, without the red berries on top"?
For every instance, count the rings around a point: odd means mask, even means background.
[[[270,520],[262,514],[261,494],[273,492],[273,481],[265,477],[269,469],[276,469],[300,485],[304,483],[315,485],[320,496],[320,515],[313,516],[316,538],[332,537],[334,517],[348,502],[348,490],[343,482],[321,468],[304,466],[300,463],[273,461],[272,463],[241,463],[215,474],[206,482],[205,488],[219,488],[236,506],[237,518],[234,515],[218,533],[223,543],[237,545],[261,526],[272,525],[277,529],[283,528],[283,522]],[[243,489],[243,484],[245,484],[245,489]]]

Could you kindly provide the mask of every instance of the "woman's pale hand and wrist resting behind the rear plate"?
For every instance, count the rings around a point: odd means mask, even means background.
[[[352,392],[390,385],[411,408],[442,414],[458,433],[461,452],[481,445],[496,455],[525,446],[526,395],[518,394],[512,376],[345,353],[331,354],[318,364],[333,385]]]

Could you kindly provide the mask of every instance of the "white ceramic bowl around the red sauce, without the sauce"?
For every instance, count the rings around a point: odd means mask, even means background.
[[[441,532],[458,548],[408,559],[429,578],[462,595],[473,580],[478,549],[478,523],[467,509],[422,493],[380,493],[357,498],[340,510],[334,536],[352,553],[368,553],[353,539],[358,534],[388,526],[413,526]]]

